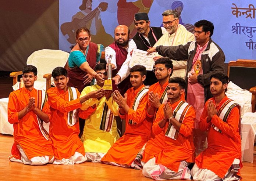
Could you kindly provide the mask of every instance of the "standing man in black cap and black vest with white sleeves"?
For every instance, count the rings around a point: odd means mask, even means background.
[[[134,15],[135,28],[138,31],[136,35],[129,42],[128,55],[121,69],[114,77],[115,83],[123,81],[129,74],[129,63],[131,61],[131,52],[134,48],[147,51],[166,33],[165,28],[151,27],[149,17],[146,12],[138,12]],[[145,85],[152,85],[157,82],[156,76],[153,71],[147,71],[147,77],[144,82]]]

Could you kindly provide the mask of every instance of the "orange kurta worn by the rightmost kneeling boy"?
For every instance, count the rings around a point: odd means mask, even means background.
[[[216,106],[214,98],[210,98],[209,100],[213,101],[218,111],[228,99],[225,96],[218,106]],[[211,122],[207,123],[207,105],[209,104],[209,100],[205,104],[199,122],[200,130],[209,130],[207,135],[208,147],[196,157],[195,162],[200,169],[209,169],[220,178],[223,178],[235,158],[240,159],[240,167],[242,168],[241,135],[239,130],[240,113],[237,106],[235,106],[231,110],[227,122],[223,122],[220,117],[214,115],[211,118]],[[214,130],[211,124],[214,124],[222,132],[220,133]]]

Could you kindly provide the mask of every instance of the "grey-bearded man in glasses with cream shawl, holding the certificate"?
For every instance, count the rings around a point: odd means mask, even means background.
[[[177,46],[180,44],[185,45],[189,41],[194,41],[195,36],[186,30],[186,28],[179,24],[179,14],[177,11],[166,10],[162,14],[163,26],[167,30],[157,42],[156,46]],[[154,60],[160,58],[159,54],[156,54]],[[173,77],[182,77],[185,79],[187,61],[175,61],[173,60]]]

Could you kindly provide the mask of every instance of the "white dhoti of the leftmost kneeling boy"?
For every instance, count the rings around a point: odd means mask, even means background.
[[[19,152],[21,153],[21,159],[17,159],[14,156],[10,156],[9,159],[12,162],[19,162],[19,163],[24,163],[24,164],[29,164],[29,165],[43,165],[47,163],[53,163],[54,156],[49,160],[49,156],[35,156],[31,159],[29,159],[24,150],[21,148],[20,145],[17,145],[17,148],[19,149]]]

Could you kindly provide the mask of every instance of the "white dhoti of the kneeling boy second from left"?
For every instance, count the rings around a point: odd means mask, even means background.
[[[61,160],[55,159],[53,164],[65,164],[65,165],[68,165],[68,164],[78,164],[78,163],[83,163],[86,160],[87,160],[86,156],[83,156],[79,152],[75,152],[75,154],[72,155],[68,159],[65,159],[65,158],[63,158]]]

